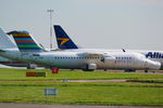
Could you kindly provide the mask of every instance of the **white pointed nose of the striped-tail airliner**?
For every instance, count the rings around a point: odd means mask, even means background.
[[[158,69],[161,68],[161,63],[160,62],[153,62],[153,60],[147,59],[146,66],[149,69],[158,70]]]

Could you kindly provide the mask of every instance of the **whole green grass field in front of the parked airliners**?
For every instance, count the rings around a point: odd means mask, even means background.
[[[163,75],[62,70],[58,75],[48,71],[46,78],[26,78],[25,72],[0,69],[0,103],[163,106]],[[127,79],[137,83],[49,81],[52,79]],[[45,96],[46,87],[58,89],[58,95]]]

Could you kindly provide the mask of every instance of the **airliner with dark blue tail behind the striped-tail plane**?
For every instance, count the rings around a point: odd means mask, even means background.
[[[122,50],[101,50],[101,49],[82,49],[78,48],[74,41],[68,37],[68,35],[63,30],[60,25],[54,25],[54,32],[57,37],[58,48],[65,51],[74,51],[74,52],[122,52]],[[140,51],[140,50],[123,50],[123,52],[137,52],[141,53],[154,62],[160,62],[163,67],[163,51]]]

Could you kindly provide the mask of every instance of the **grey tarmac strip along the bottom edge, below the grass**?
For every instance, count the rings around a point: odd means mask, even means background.
[[[163,108],[140,106],[87,106],[87,105],[45,105],[45,104],[12,104],[0,103],[0,108]]]

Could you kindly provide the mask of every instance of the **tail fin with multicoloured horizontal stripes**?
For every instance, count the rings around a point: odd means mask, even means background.
[[[40,52],[43,49],[35,41],[28,31],[10,31],[8,35],[12,35],[20,51],[27,52]]]

